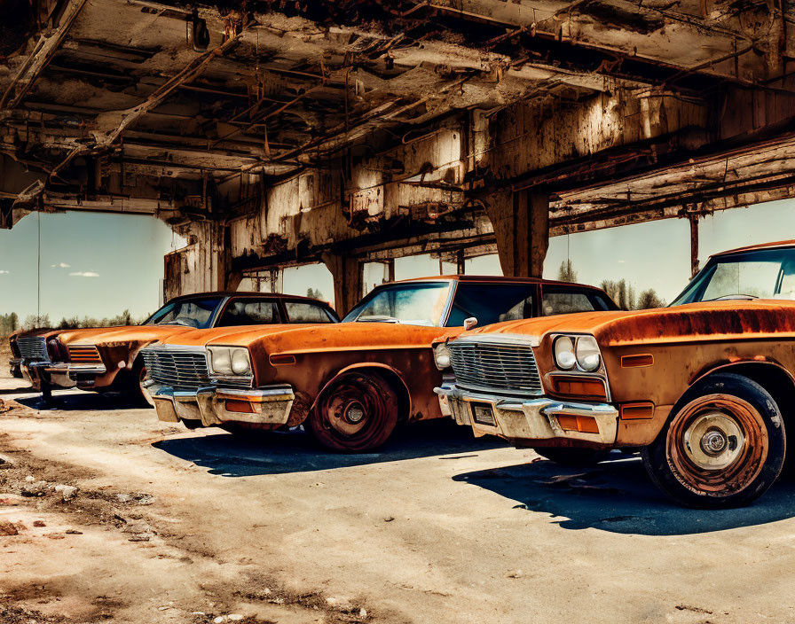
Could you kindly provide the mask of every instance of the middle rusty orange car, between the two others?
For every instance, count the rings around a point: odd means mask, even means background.
[[[429,277],[378,286],[341,324],[185,332],[142,353],[163,421],[233,432],[303,423],[327,448],[361,452],[399,420],[442,416],[430,344],[449,328],[615,308],[590,286]]]

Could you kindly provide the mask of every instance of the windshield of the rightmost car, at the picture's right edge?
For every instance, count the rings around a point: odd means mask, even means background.
[[[712,258],[671,305],[753,299],[795,300],[795,249],[758,249]]]

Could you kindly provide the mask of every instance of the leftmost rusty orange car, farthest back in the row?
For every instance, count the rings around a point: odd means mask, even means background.
[[[40,330],[11,338],[15,364],[43,394],[53,387],[120,391],[152,404],[143,386],[141,348],[174,334],[209,327],[337,323],[323,301],[275,292],[201,292],[169,300],[143,324],[83,330]],[[13,365],[13,363],[12,363]]]

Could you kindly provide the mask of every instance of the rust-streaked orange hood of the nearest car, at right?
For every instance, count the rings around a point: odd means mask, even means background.
[[[688,342],[705,336],[736,338],[748,333],[795,332],[795,301],[705,301],[673,308],[580,312],[508,321],[462,335],[520,334],[540,339],[555,331],[591,333],[600,344],[610,346]]]

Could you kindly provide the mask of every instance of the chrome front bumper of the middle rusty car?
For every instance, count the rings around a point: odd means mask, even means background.
[[[204,426],[227,422],[284,425],[295,401],[293,388],[287,385],[256,390],[218,386],[180,390],[149,380],[144,386],[152,395],[157,417],[166,423],[193,420],[201,421]],[[237,410],[242,407],[250,411]]]

